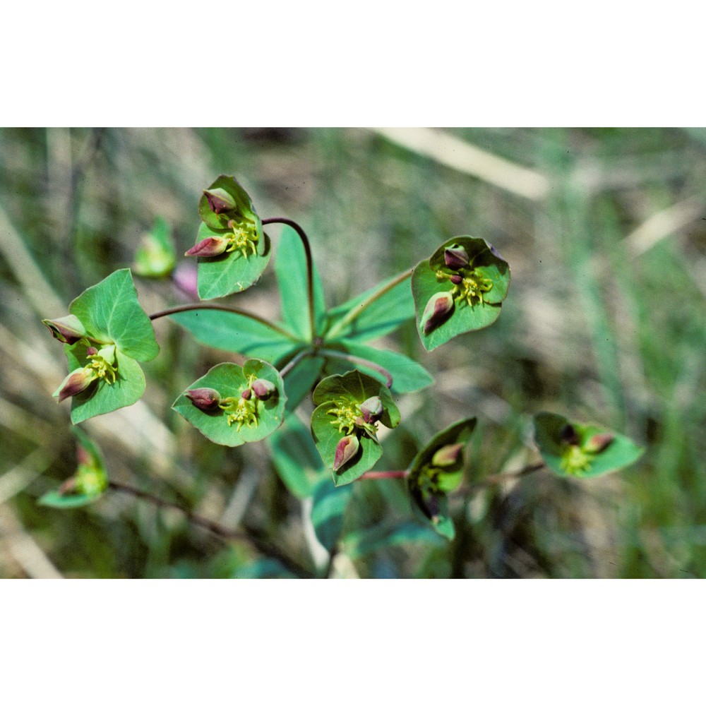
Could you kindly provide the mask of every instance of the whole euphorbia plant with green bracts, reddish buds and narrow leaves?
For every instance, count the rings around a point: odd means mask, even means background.
[[[140,398],[145,378],[139,363],[159,352],[152,322],[169,316],[204,345],[245,357],[241,364],[224,361],[211,368],[179,395],[173,409],[217,444],[268,439],[273,465],[287,487],[297,496],[312,496],[315,503],[329,498],[330,507],[337,508],[333,525],[330,515],[316,520],[323,517],[316,505],[312,512],[327,549],[335,548],[332,528],[340,530],[349,497],[349,488],[342,486],[359,479],[405,479],[417,519],[453,539],[448,495],[462,490],[465,446],[476,419],[430,430],[429,441],[408,469],[373,469],[383,457],[381,431],[395,429],[401,421],[395,399],[426,388],[433,378],[418,361],[368,344],[412,318],[427,351],[491,325],[508,296],[507,261],[484,239],[459,235],[414,268],[328,309],[309,239],[296,222],[261,219],[248,193],[225,175],[203,191],[198,214],[202,222],[196,242],[185,254],[197,259],[201,301],[148,316],[138,302],[131,271],[124,269],[80,294],[69,304],[68,315],[56,312],[58,318],[44,320],[64,345],[68,375],[54,395],[59,402],[71,400],[73,424]],[[282,321],[206,301],[257,282],[272,253],[264,229],[275,224],[288,226],[275,261]],[[164,222],[143,241],[137,261],[144,276],[169,276],[173,246]],[[308,395],[314,405],[309,431],[294,414]],[[546,466],[561,475],[604,473],[641,453],[625,437],[558,415],[539,414],[536,429]],[[45,504],[78,505],[94,501],[108,488],[126,489],[105,479],[95,445],[83,433],[79,438],[83,461],[75,479],[45,496]],[[533,468],[539,467],[544,464]],[[328,468],[326,479],[323,468]],[[330,500],[334,492],[335,502]],[[143,491],[133,494],[152,498]]]

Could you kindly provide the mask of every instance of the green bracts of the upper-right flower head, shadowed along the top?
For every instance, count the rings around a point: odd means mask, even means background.
[[[465,251],[467,264],[449,267],[445,261],[447,249]],[[460,282],[455,284],[452,277]],[[457,335],[491,325],[500,316],[509,286],[510,266],[484,239],[463,236],[446,241],[412,273],[412,295],[422,345],[431,351]],[[453,304],[425,326],[430,302],[447,292]]]

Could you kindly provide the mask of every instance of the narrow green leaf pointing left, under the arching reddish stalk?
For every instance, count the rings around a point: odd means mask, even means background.
[[[284,330],[231,311],[202,309],[170,316],[199,342],[213,348],[258,357],[275,363],[294,353],[299,342]],[[300,345],[300,344],[299,344]]]

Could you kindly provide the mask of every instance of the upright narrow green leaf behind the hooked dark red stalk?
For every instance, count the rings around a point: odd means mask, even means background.
[[[326,318],[323,285],[316,265],[312,263],[313,303],[316,330],[320,332]],[[282,230],[277,244],[275,274],[282,301],[282,319],[302,340],[311,338],[309,297],[307,294],[306,254],[297,232],[291,227]]]

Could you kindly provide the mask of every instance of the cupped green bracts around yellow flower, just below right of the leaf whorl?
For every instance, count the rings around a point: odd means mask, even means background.
[[[363,416],[361,404],[372,397],[380,398],[382,413],[378,421],[381,424],[388,429],[400,424],[400,410],[390,390],[357,370],[324,378],[313,391],[313,403],[317,407],[311,415],[311,434],[323,462],[333,470],[336,449],[342,438],[353,436],[359,443],[354,456],[333,471],[337,486],[361,477],[383,453],[375,435],[376,424],[362,426],[359,423]]]

